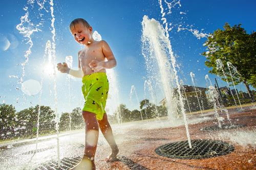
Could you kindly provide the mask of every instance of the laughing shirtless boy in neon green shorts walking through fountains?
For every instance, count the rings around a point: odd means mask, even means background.
[[[109,81],[105,72],[106,68],[116,66],[116,59],[108,43],[93,39],[92,27],[86,20],[74,19],[70,23],[70,31],[74,39],[84,45],[84,49],[78,52],[78,70],[70,69],[67,63],[58,63],[57,68],[60,72],[82,78],[82,93],[85,99],[82,116],[86,124],[84,155],[73,169],[96,169],[94,156],[99,128],[112,149],[106,161],[114,161],[119,152],[104,110],[109,92]]]

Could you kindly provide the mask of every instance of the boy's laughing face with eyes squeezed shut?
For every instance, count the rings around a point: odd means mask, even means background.
[[[86,28],[81,22],[77,23],[71,30],[72,35],[79,44],[90,44],[92,27]]]

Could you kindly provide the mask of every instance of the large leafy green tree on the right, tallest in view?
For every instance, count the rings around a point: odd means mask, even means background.
[[[227,62],[231,62],[239,72],[239,74],[234,74],[234,83],[243,82],[254,100],[249,85],[256,88],[256,33],[247,34],[241,25],[230,27],[228,23],[225,23],[224,30],[216,30],[208,36],[204,45],[207,46],[207,51],[202,55],[207,59],[205,65],[212,68],[209,72],[218,74],[222,80],[226,81],[223,72],[217,69],[216,60],[221,59],[224,71],[227,73],[227,81],[231,82],[227,67]]]

